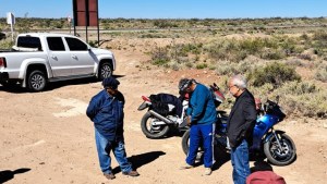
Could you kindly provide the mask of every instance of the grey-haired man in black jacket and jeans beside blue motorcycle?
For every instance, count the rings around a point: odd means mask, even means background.
[[[231,109],[227,124],[227,136],[231,147],[231,162],[233,181],[245,184],[250,175],[249,145],[256,120],[255,102],[252,94],[246,89],[246,81],[241,75],[230,78],[228,88],[237,100]]]

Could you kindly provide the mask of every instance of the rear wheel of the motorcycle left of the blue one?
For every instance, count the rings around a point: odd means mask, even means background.
[[[161,121],[146,112],[141,120],[141,128],[143,134],[148,138],[162,138],[169,132],[169,125],[153,125],[154,121]]]

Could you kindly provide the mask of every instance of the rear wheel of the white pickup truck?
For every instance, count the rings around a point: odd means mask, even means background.
[[[27,87],[31,91],[41,91],[47,85],[47,78],[44,72],[35,70],[29,73]]]

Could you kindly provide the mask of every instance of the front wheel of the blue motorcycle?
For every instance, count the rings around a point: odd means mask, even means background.
[[[264,144],[264,152],[269,162],[276,165],[287,165],[294,161],[296,156],[296,148],[294,142],[286,134],[276,133],[277,138],[272,135],[268,142]]]

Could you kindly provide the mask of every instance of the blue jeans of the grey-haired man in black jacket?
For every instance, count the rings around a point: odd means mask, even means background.
[[[246,177],[250,175],[249,146],[245,139],[241,145],[231,149],[231,163],[234,184],[245,184]]]

